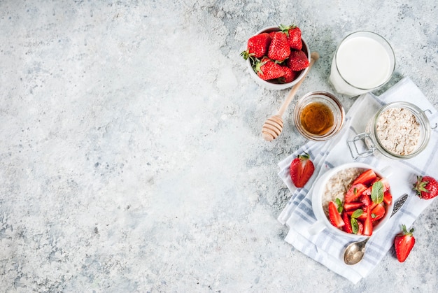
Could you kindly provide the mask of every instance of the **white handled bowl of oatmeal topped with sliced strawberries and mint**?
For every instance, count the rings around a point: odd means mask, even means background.
[[[339,236],[372,236],[389,220],[393,196],[388,179],[381,171],[362,163],[343,164],[321,176],[312,195],[317,219],[309,229],[323,229]]]

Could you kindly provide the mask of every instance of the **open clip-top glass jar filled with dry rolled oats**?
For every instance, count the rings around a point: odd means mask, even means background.
[[[383,106],[365,132],[348,141],[348,148],[353,159],[368,157],[376,150],[390,159],[410,159],[426,148],[429,138],[430,122],[425,111],[400,101]],[[358,147],[359,141],[362,148]]]

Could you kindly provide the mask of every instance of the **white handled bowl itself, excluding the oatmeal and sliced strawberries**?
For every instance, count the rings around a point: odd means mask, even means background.
[[[376,175],[381,178],[386,178],[389,175],[388,174],[387,176],[385,176],[388,173],[388,171],[382,172],[377,170],[373,166],[370,166],[369,164],[363,164],[363,163],[342,164],[324,173],[323,176],[321,176],[316,180],[315,183],[316,185],[314,187],[312,194],[312,209],[316,217],[316,222],[309,229],[309,234],[318,234],[320,231],[323,231],[323,229],[327,229],[328,231],[330,231],[330,233],[337,234],[339,236],[349,237],[349,238],[358,239],[358,238],[368,237],[365,235],[346,233],[345,231],[342,231],[341,229],[334,227],[330,223],[330,220],[327,218],[323,210],[323,193],[325,191],[325,185],[327,184],[327,181],[339,171],[349,168],[360,168],[360,169],[364,169],[364,171],[365,169],[373,169]],[[388,220],[391,217],[391,213],[393,213],[393,208],[394,208],[394,201],[392,201],[390,205],[386,206],[385,216],[380,220],[378,224],[376,224],[376,226],[373,227],[372,234],[377,233],[381,229],[381,227],[383,227],[388,222]]]

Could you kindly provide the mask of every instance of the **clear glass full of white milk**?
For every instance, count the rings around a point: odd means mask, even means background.
[[[341,41],[332,61],[329,82],[351,97],[384,85],[395,69],[393,48],[372,31],[356,31]]]

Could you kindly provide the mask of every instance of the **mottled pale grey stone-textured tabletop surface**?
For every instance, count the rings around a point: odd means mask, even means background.
[[[386,36],[438,108],[435,1],[0,1],[3,292],[432,292],[438,206],[358,285],[285,243],[276,164],[306,141],[262,141],[288,90],[239,53],[295,22],[320,53],[297,96],[332,89],[346,34]],[[339,95],[348,109],[355,99]]]

